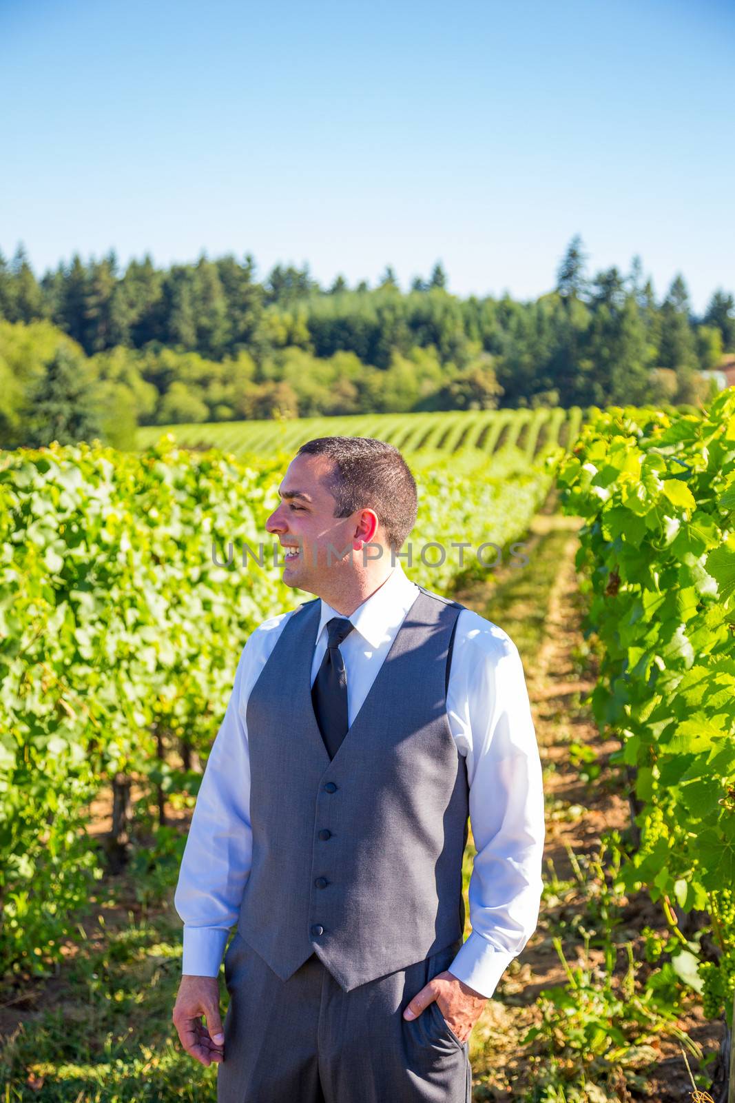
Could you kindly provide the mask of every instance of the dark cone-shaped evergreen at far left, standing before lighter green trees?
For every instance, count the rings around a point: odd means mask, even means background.
[[[79,356],[60,345],[28,396],[25,446],[45,448],[54,440],[76,445],[101,438],[100,414],[90,382]]]

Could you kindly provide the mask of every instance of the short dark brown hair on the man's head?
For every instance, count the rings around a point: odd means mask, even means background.
[[[417,520],[417,484],[394,447],[375,437],[315,437],[296,456],[333,460],[325,485],[336,500],[335,517],[375,510],[393,552],[399,552]]]

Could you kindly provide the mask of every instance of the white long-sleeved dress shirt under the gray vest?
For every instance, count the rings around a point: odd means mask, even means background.
[[[417,593],[398,563],[350,614],[354,629],[339,645],[350,725]],[[252,856],[246,706],[292,613],[270,617],[250,634],[207,760],[174,896],[184,922],[183,973],[217,976],[239,915]],[[322,600],[312,684],[326,651],[326,623],[343,615]],[[446,713],[457,750],[466,759],[477,850],[468,888],[472,931],[450,972],[489,997],[536,930],[544,810],[541,761],[518,649],[502,629],[469,609],[457,618]]]

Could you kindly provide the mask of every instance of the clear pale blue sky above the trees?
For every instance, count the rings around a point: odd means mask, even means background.
[[[735,292],[725,0],[0,0],[0,249]]]

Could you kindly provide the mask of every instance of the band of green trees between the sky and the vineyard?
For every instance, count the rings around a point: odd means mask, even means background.
[[[36,278],[19,245],[0,254],[0,320],[6,448],[42,443],[50,418],[122,438],[139,424],[696,404],[700,373],[735,350],[732,293],[696,317],[681,274],[659,301],[638,256],[590,277],[579,235],[528,302],[460,298],[440,263],[406,291],[390,267],[375,287],[322,287],[307,265],[258,280],[250,254],[125,270],[114,251],[75,254]]]

